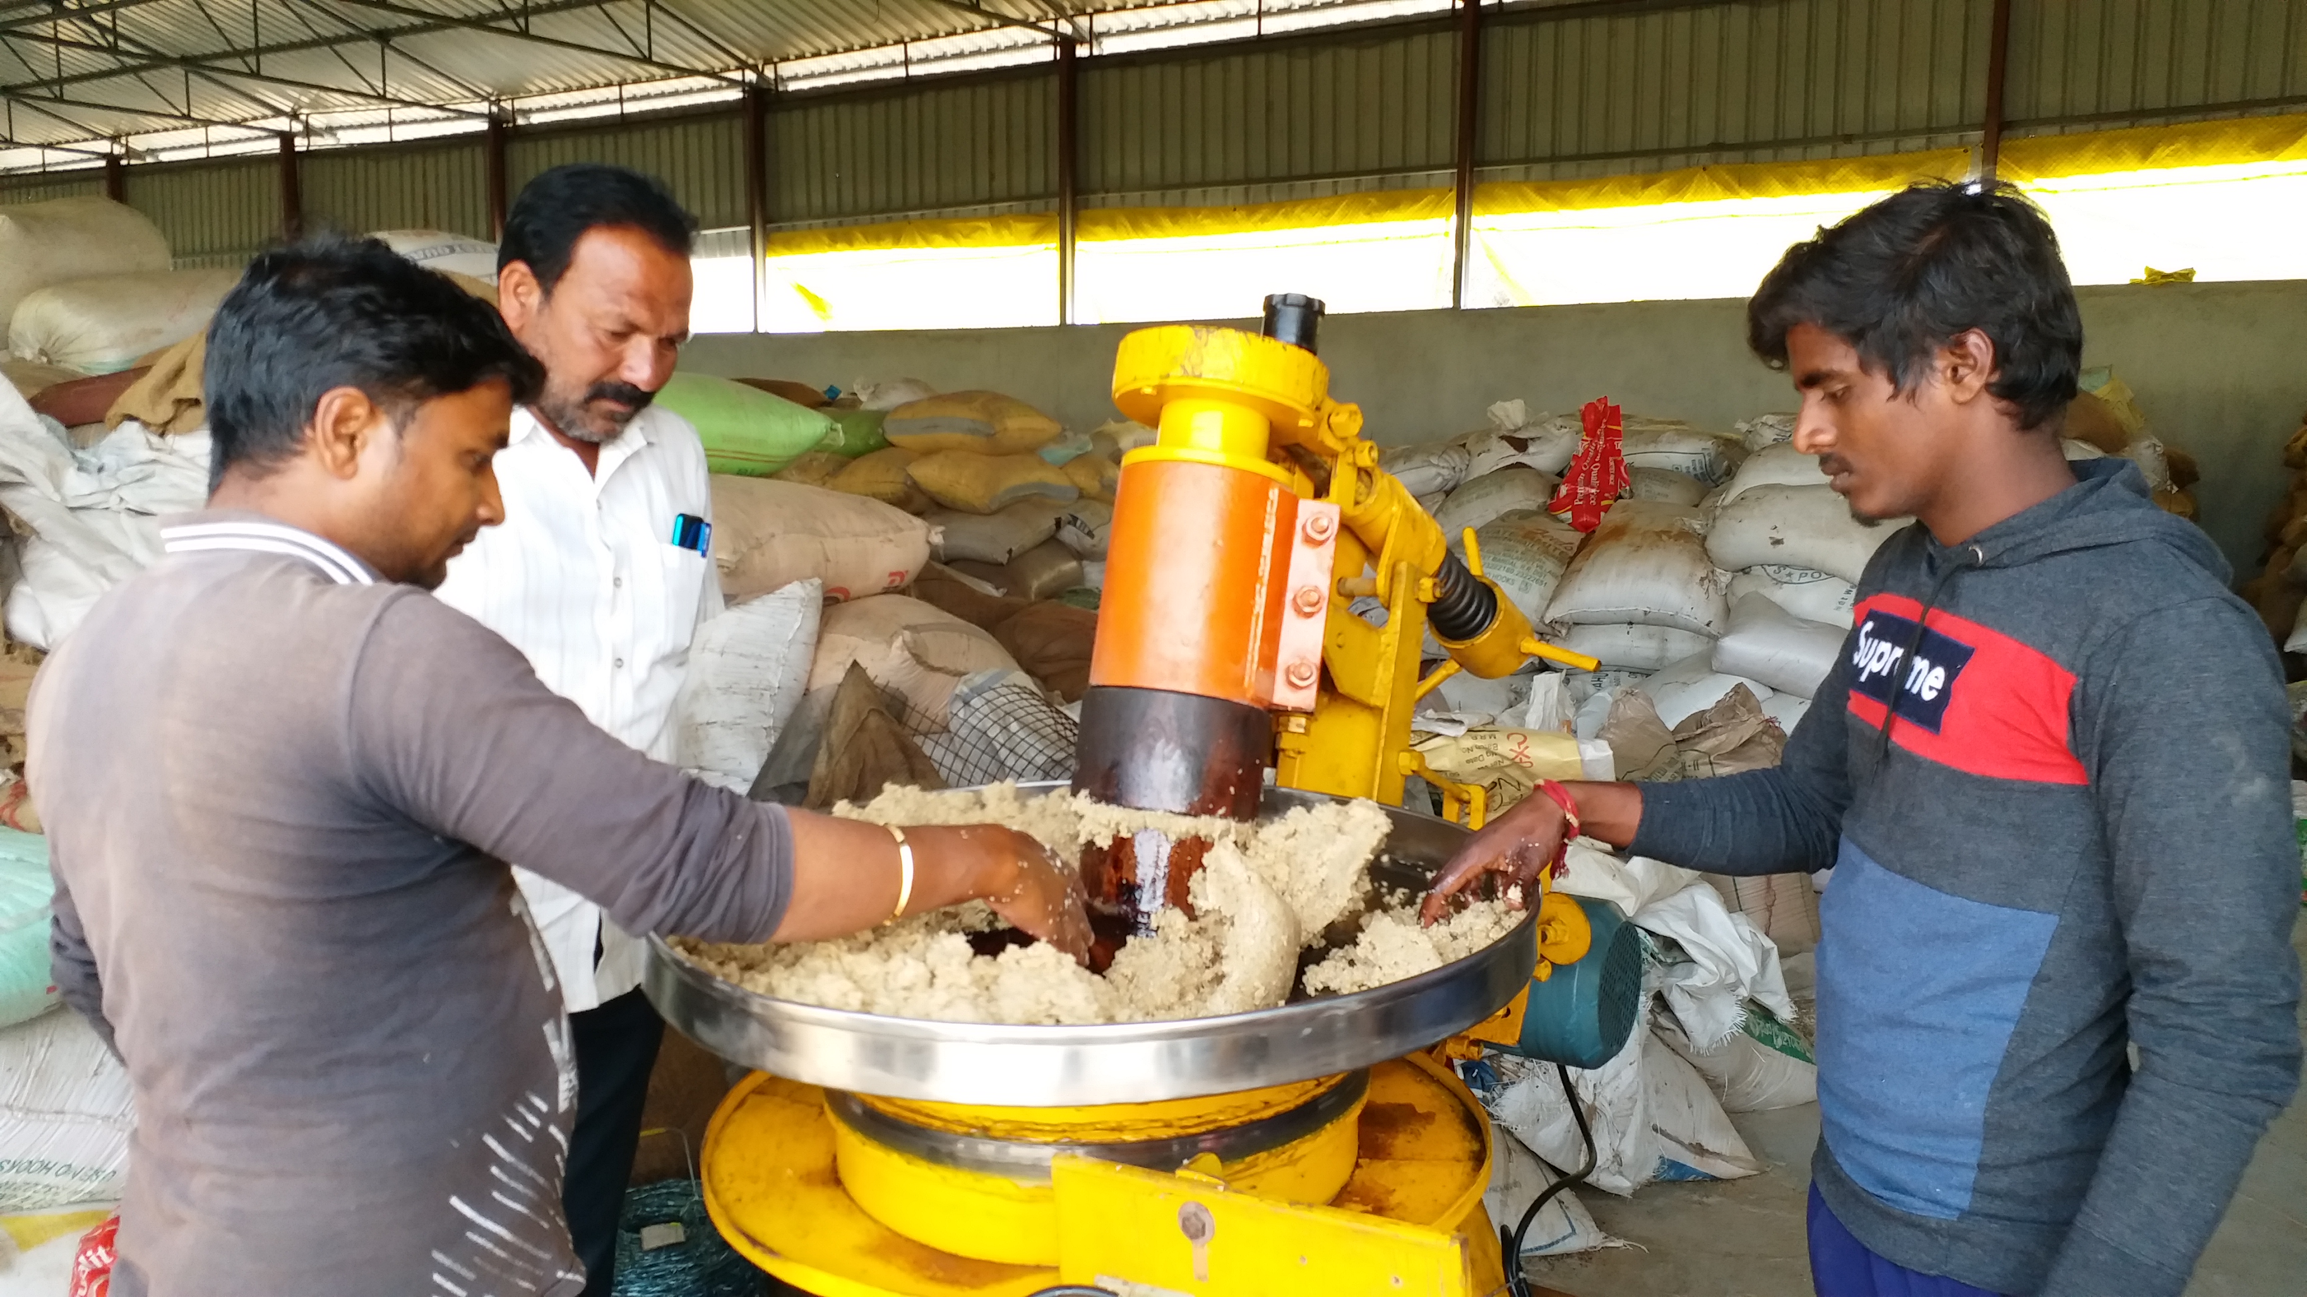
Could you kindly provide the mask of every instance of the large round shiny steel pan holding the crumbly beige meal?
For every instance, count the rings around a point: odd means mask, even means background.
[[[1050,785],[1061,787],[1061,785]],[[1264,815],[1338,801],[1267,789]],[[1465,829],[1387,808],[1393,833],[1382,884],[1423,886]],[[1536,967],[1536,925],[1523,919],[1490,949],[1428,974],[1363,990],[1174,1022],[999,1027],[930,1022],[794,1004],[722,981],[648,939],[648,999],[715,1055],[801,1082],[891,1099],[1066,1108],[1156,1103],[1287,1085],[1370,1066],[1481,1022]]]

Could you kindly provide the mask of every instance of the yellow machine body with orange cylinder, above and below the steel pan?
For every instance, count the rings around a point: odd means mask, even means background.
[[[1200,325],[1124,339],[1114,404],[1158,441],[1121,464],[1091,688],[1250,709],[1269,718],[1255,750],[1227,752],[1250,778],[1271,762],[1283,787],[1398,805],[1421,773],[1479,829],[1481,789],[1440,780],[1410,748],[1416,699],[1456,669],[1596,662],[1532,635],[1481,575],[1472,535],[1458,563],[1377,466],[1361,411],[1329,397],[1310,332],[1303,342]],[[1350,609],[1361,595],[1384,605],[1384,625]],[[1470,607],[1488,612],[1463,639],[1440,637],[1451,660],[1421,679],[1437,600],[1460,623]],[[1084,715],[1084,748],[1089,729]],[[1239,780],[1193,792],[1213,803],[1197,812],[1241,817],[1257,801]],[[1543,976],[1548,960],[1585,953],[1590,928],[1539,886]],[[1183,1170],[1128,1165],[1128,1149],[1179,1140],[1232,1152]],[[1029,1147],[1054,1156],[1020,1170]],[[704,1165],[731,1246],[824,1297],[1029,1297],[1057,1283],[1486,1297],[1504,1283],[1481,1205],[1488,1117],[1426,1055],[1246,1094],[1061,1110],[844,1096],[757,1073],[715,1115]]]

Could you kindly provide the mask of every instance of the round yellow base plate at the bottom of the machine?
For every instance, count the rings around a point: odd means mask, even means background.
[[[1333,1207],[1467,1235],[1476,1290],[1502,1283],[1481,1209],[1490,1126],[1423,1055],[1370,1069],[1359,1159]],[[865,1214],[840,1184],[833,1122],[814,1085],[754,1073],[706,1131],[706,1209],[741,1255],[819,1297],[1029,1297],[1057,1269],[960,1258]]]

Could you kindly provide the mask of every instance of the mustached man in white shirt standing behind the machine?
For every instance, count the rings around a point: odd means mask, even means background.
[[[514,198],[496,254],[498,312],[544,362],[544,392],[514,411],[496,455],[503,526],[482,531],[438,588],[593,725],[657,762],[674,759],[690,637],[722,609],[704,445],[681,415],[651,406],[690,337],[694,231],[664,185],[618,166],[556,166]],[[609,1297],[664,1022],[641,997],[634,937],[574,891],[517,877],[577,1055],[563,1205],[586,1295]]]

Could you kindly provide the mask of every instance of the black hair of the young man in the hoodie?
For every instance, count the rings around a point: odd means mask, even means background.
[[[2012,185],[1924,182],[1786,249],[1746,302],[1746,346],[1786,369],[1786,332],[1823,328],[1908,392],[1966,330],[1996,344],[1989,392],[2042,427],[2074,399],[2083,316],[2058,235]]]

